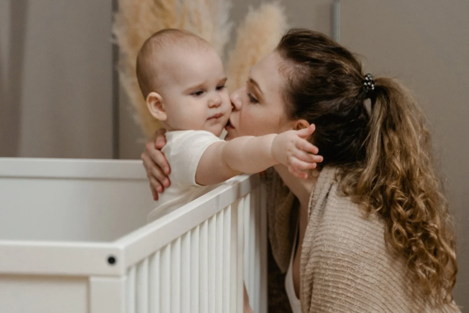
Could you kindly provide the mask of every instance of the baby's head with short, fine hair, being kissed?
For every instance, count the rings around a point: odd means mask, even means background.
[[[159,31],[140,49],[136,72],[151,115],[167,130],[221,134],[231,102],[223,63],[207,41],[188,31]]]

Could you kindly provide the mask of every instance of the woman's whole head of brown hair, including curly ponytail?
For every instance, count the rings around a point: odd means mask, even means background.
[[[361,63],[315,31],[288,31],[276,51],[289,117],[316,124],[323,164],[342,168],[342,191],[384,220],[386,243],[404,255],[414,285],[439,304],[450,302],[454,236],[425,117],[412,94],[386,77],[374,78],[367,94]]]

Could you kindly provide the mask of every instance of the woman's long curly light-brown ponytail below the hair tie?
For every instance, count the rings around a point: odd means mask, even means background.
[[[365,161],[346,176],[344,191],[382,217],[387,244],[404,255],[424,293],[449,303],[457,273],[455,242],[424,114],[397,80],[374,83]]]

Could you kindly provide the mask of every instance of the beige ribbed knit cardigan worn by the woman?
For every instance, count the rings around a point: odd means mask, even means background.
[[[405,261],[386,246],[383,222],[340,195],[338,171],[323,168],[311,193],[300,265],[302,313],[460,312],[455,305],[435,308],[411,291]],[[276,263],[269,263],[269,313],[290,312],[282,274],[298,210],[280,177],[269,177],[269,252]]]

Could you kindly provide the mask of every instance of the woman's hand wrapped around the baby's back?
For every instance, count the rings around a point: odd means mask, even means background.
[[[168,178],[171,168],[165,155],[160,151],[166,145],[165,132],[165,129],[155,131],[151,139],[147,141],[141,155],[155,201],[158,200],[158,194],[171,183]]]

